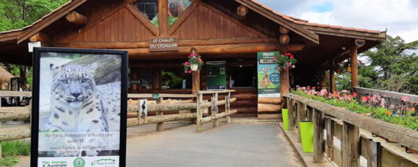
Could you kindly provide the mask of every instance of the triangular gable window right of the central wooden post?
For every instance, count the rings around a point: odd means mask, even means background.
[[[173,25],[191,4],[190,0],[169,0],[169,26]]]

